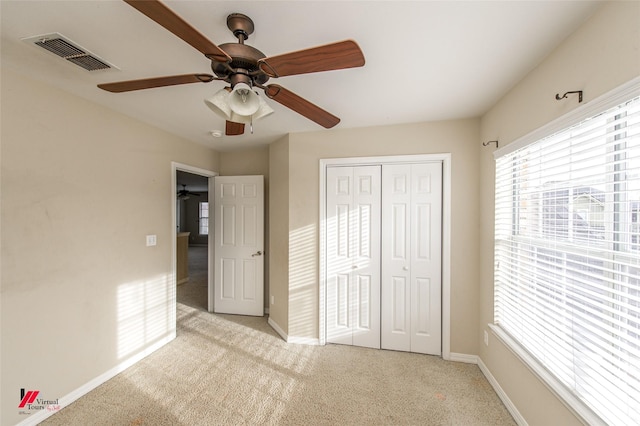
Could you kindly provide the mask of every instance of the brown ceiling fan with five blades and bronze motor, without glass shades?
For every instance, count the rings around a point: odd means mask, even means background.
[[[256,87],[260,88],[268,98],[325,128],[331,128],[340,122],[338,117],[278,84],[265,83],[270,78],[361,67],[365,62],[360,47],[353,40],[266,57],[258,49],[244,44],[253,33],[254,24],[248,16],[241,13],[232,13],[227,17],[227,27],[238,39],[238,43],[217,46],[160,1],[124,1],[203,53],[211,61],[211,69],[215,75],[183,74],[98,85],[109,92],[220,80],[230,84],[230,88],[225,88],[227,91],[233,90],[236,85],[238,88],[247,85],[252,91]],[[244,94],[246,93],[245,91]],[[229,136],[243,134],[245,125],[239,121],[242,120],[227,119],[225,133]]]

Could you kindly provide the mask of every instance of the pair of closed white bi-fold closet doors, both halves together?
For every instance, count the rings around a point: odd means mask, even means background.
[[[327,342],[441,354],[441,163],[326,176]]]

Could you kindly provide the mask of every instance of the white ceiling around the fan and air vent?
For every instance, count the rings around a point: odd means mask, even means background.
[[[353,128],[477,117],[601,4],[586,1],[166,1],[215,44],[236,42],[233,12],[250,16],[250,44],[267,56],[344,39],[362,68],[271,79]],[[215,139],[224,120],[203,99],[223,82],[108,93],[98,83],[209,73],[197,50],[119,0],[2,0],[2,66],[220,151],[323,128],[267,100],[275,113],[243,136]],[[58,32],[118,67],[85,71],[21,39]],[[330,131],[330,130],[323,130]]]

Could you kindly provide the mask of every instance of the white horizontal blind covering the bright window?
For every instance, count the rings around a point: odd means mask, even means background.
[[[640,98],[496,159],[495,324],[612,425],[640,424]]]

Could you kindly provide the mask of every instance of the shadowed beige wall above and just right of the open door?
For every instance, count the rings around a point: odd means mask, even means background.
[[[264,176],[264,307],[269,308],[269,147],[220,153],[221,176]]]

